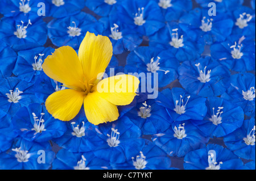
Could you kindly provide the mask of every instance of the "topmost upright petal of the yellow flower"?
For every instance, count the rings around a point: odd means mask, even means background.
[[[99,73],[105,72],[112,54],[112,43],[107,36],[86,33],[79,48],[79,60],[88,83],[93,83]]]

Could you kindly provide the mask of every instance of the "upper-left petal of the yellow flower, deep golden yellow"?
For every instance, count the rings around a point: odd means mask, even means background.
[[[76,90],[84,90],[82,66],[73,48],[65,46],[56,49],[44,60],[42,68],[48,77],[57,82]]]

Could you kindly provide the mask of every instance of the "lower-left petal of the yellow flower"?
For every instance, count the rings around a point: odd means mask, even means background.
[[[83,102],[84,92],[65,89],[48,96],[46,109],[55,119],[70,121],[79,113]]]

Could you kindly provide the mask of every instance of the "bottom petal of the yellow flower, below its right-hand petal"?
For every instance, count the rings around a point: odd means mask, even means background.
[[[119,116],[117,106],[101,98],[98,92],[85,96],[84,111],[88,121],[94,125],[115,121]]]

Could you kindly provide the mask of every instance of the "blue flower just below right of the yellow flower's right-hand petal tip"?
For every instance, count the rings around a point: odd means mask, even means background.
[[[154,99],[137,103],[137,106],[126,113],[126,116],[129,117],[135,125],[141,128],[143,134],[164,132],[173,122],[166,108],[156,104]]]

